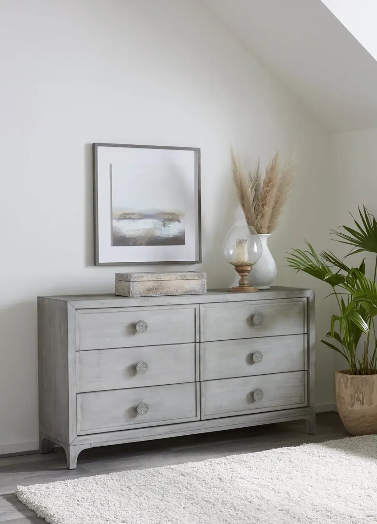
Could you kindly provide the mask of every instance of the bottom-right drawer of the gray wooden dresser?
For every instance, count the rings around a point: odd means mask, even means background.
[[[202,382],[202,419],[307,405],[306,372]]]

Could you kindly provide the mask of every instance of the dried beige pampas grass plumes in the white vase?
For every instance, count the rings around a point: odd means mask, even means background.
[[[263,180],[259,162],[254,171],[247,172],[233,150],[230,155],[233,181],[248,226],[259,234],[272,233],[293,187],[298,165],[295,152],[281,169],[279,152],[276,152],[265,168]]]

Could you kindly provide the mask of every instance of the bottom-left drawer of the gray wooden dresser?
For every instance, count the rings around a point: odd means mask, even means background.
[[[198,420],[195,383],[77,395],[77,434]]]

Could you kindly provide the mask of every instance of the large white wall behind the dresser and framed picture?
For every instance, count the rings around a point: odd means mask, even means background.
[[[119,270],[93,267],[92,142],[202,148],[195,269],[209,287],[234,280],[221,252],[237,205],[230,144],[252,163],[278,147],[301,152],[271,238],[280,285],[315,284],[284,256],[302,238],[326,247],[332,196],[327,132],[196,0],[2,3],[0,67],[0,452],[9,452],[37,446],[36,297],[111,292]],[[318,338],[323,296],[319,287]],[[317,369],[318,403],[332,402],[332,355],[320,345]]]

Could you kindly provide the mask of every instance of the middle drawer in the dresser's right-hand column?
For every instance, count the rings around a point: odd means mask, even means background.
[[[204,342],[201,380],[301,371],[307,368],[307,335]]]

